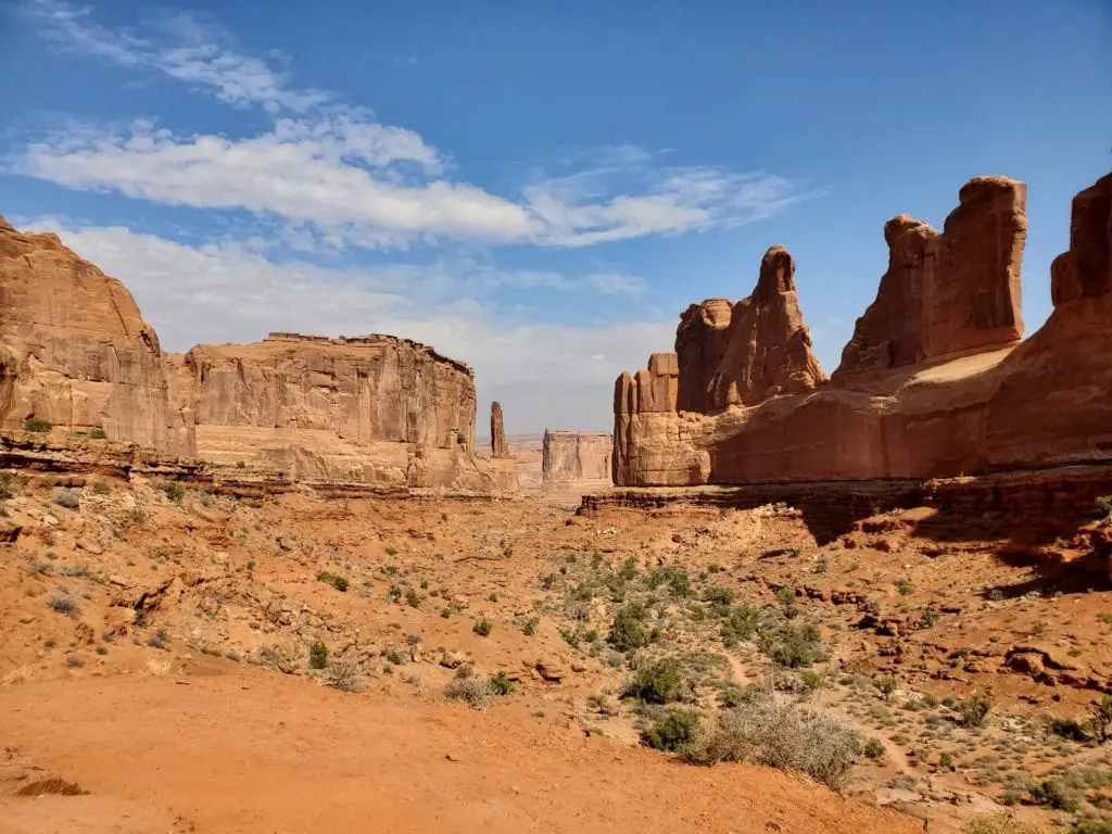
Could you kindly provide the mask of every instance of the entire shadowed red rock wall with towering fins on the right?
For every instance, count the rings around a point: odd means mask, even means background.
[[[775,286],[791,298],[768,304],[766,255],[747,305],[712,299],[682,316],[677,378],[653,360],[618,377],[615,483],[930,478],[1108,460],[1110,193],[1112,175],[1074,199],[1070,250],[1052,269],[1054,312],[1026,341],[1022,183],[972,180],[941,234],[891,220],[888,270],[828,381],[803,350],[810,340],[790,280]],[[749,312],[738,331],[739,307]],[[656,396],[673,385],[674,405]]]

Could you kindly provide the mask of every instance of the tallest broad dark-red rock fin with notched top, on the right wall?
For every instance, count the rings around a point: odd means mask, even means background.
[[[888,269],[834,371],[854,375],[1009,347],[1023,336],[1020,262],[1026,186],[977,177],[940,235],[907,215],[884,227]]]

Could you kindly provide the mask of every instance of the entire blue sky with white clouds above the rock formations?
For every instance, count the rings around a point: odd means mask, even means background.
[[[397,332],[479,423],[606,428],[691,301],[795,256],[830,371],[883,225],[1029,183],[1024,316],[1112,163],[1105,0],[0,3],[0,212],[121,278],[163,347]]]

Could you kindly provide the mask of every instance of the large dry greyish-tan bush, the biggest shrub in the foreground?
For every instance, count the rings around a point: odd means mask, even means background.
[[[852,729],[767,695],[722,715],[686,755],[697,764],[751,762],[794,771],[841,791],[861,748]]]

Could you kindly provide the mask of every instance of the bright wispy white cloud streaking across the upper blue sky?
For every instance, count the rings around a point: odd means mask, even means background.
[[[440,239],[584,247],[745,224],[803,193],[763,171],[664,166],[659,153],[632,143],[579,149],[564,160],[570,172],[492,193],[447,178],[447,155],[415,131],[381,125],[336,93],[294,86],[214,24],[163,13],[119,30],[64,0],[18,8],[59,48],[160,72],[237,107],[260,106],[275,122],[239,138],[172,133],[150,121],[79,126],[9,155],[10,169],[75,189],[279,219],[302,249]]]

